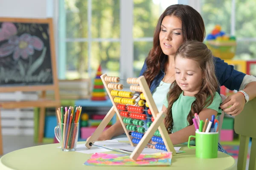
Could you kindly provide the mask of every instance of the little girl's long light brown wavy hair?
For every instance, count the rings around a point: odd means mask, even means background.
[[[195,95],[195,101],[192,103],[191,110],[187,116],[189,125],[192,125],[192,118],[194,114],[199,114],[202,109],[208,107],[212,103],[215,92],[219,87],[218,80],[215,75],[215,65],[211,50],[209,50],[204,43],[195,40],[183,43],[177,50],[175,59],[177,56],[196,61],[203,73],[201,88],[198,94]],[[172,127],[174,125],[172,118],[172,106],[181,93],[182,89],[180,89],[180,86],[178,86],[177,82],[174,81],[167,94],[168,108],[166,110],[167,116],[165,118],[165,125],[168,133],[172,133]]]

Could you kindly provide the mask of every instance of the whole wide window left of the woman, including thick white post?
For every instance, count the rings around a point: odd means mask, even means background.
[[[60,79],[94,78],[102,72],[137,77],[152,47],[160,14],[178,0],[60,0]]]

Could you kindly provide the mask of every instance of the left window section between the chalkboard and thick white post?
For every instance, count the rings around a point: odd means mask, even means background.
[[[119,0],[64,0],[62,78],[93,78],[99,64],[102,72],[119,76],[119,6]]]

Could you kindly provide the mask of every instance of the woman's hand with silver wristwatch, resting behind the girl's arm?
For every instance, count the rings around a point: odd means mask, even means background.
[[[229,115],[236,116],[244,109],[245,99],[241,92],[230,95],[221,104],[221,109]],[[230,107],[231,106],[231,107]]]

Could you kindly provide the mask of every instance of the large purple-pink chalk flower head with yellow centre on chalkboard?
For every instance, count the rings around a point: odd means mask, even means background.
[[[35,49],[41,51],[44,48],[43,41],[30,34],[23,34],[20,37],[14,35],[9,38],[7,43],[0,46],[0,57],[5,57],[13,52],[13,59],[18,60],[20,56],[27,59],[29,55],[33,55]]]

